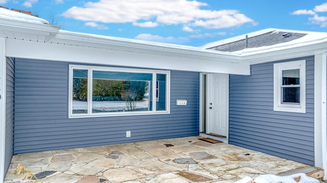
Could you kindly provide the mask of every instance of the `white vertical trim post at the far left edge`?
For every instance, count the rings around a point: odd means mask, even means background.
[[[0,38],[0,182],[5,179],[6,148],[6,56],[5,38]]]

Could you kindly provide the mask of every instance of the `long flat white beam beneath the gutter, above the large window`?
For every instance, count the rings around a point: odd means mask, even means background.
[[[220,57],[199,56],[190,58],[170,54],[146,54],[111,49],[99,49],[79,45],[54,44],[6,39],[6,56],[44,59],[72,63],[101,64],[150,69],[195,71],[249,75],[250,66],[221,62]],[[38,51],[35,51],[38,50]]]

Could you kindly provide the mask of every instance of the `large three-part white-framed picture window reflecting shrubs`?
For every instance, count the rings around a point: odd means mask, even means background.
[[[72,118],[170,113],[170,71],[69,65],[68,100]]]

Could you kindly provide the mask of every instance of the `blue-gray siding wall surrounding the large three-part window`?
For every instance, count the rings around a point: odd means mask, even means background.
[[[171,71],[170,114],[68,119],[68,65],[16,58],[14,154],[198,135],[199,73]]]

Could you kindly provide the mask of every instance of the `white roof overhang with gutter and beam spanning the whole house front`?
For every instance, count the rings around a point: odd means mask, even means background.
[[[7,40],[6,56],[89,64],[248,75],[251,64],[327,52],[327,39],[305,45],[267,47],[264,51],[229,53],[198,47],[74,33],[62,31],[55,25],[4,18],[0,18],[0,25],[0,37]],[[255,34],[264,31],[271,30],[265,29]],[[54,53],[54,50],[57,52]],[[108,59],[112,55],[117,60],[100,61],[100,58]],[[128,59],[137,62],[129,62]]]

